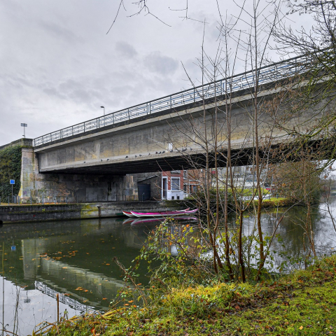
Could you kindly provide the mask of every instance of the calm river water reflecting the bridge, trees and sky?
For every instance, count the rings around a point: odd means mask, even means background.
[[[336,199],[331,206],[336,214]],[[262,214],[266,235],[272,233],[283,211],[272,209]],[[279,251],[286,250],[292,258],[300,255],[304,248],[304,230],[300,226],[304,218],[303,207],[286,212],[278,229],[282,243],[274,241],[274,249],[278,251],[274,268],[286,259]],[[253,216],[244,218],[245,234],[251,232],[254,221]],[[314,209],[311,221],[316,251],[332,253],[336,232],[325,205]],[[3,263],[0,260],[0,271],[3,269],[4,274],[0,276],[0,323],[6,330],[15,329],[18,335],[29,335],[38,323],[57,321],[57,294],[59,311],[66,310],[69,317],[108,309],[111,299],[124,286],[122,272],[113,257],[129,267],[155,224],[158,222],[133,223],[126,218],[106,218],[3,225],[0,228],[0,258],[2,253],[4,258]],[[139,281],[146,283],[146,268],[138,272]]]

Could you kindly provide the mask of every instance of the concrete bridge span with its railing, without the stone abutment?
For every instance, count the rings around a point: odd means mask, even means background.
[[[290,59],[260,71],[260,100],[272,99],[283,90],[279,79],[304,70],[302,66],[297,68],[295,62],[293,65]],[[228,104],[232,109],[232,149],[253,148],[251,86],[253,73],[250,71],[45,134],[34,139],[39,172],[125,175],[193,168],[190,160],[186,160],[187,155],[202,167],[206,145],[214,147],[215,109],[218,111],[218,148],[222,151],[228,148]],[[229,92],[232,93],[230,98]],[[259,116],[259,137],[273,137],[281,142],[288,136],[283,127],[293,129],[312,118],[322,118],[316,116],[315,111],[306,111],[304,120],[302,116],[292,118],[279,127],[270,114],[263,111]]]

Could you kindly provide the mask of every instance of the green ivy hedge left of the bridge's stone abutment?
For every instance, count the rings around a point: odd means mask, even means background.
[[[1,202],[7,202],[12,195],[10,179],[15,180],[13,195],[18,195],[20,190],[21,176],[21,146],[8,147],[0,151],[0,197]]]

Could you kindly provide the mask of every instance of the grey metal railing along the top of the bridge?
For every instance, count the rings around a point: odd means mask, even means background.
[[[297,73],[304,72],[305,64],[308,62],[307,59],[307,56],[299,56],[286,59],[282,62],[262,66],[257,69],[259,85],[272,83],[276,80],[281,80],[283,78],[294,76]],[[76,134],[83,134],[87,131],[97,130],[105,126],[120,123],[125,120],[131,120],[140,116],[147,116],[193,102],[200,102],[203,98],[209,99],[237,92],[239,90],[248,89],[253,87],[254,81],[255,70],[239,73],[235,76],[217,80],[216,82],[193,87],[179,93],[151,100],[151,102],[132,106],[128,109],[109,113],[106,116],[87,120],[83,123],[45,134],[34,139],[34,146],[41,146],[66,137],[73,137],[73,135]]]

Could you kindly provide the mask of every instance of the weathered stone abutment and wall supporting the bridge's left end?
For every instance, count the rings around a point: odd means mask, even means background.
[[[41,174],[38,154],[33,148],[22,148],[22,203],[115,202],[137,199],[133,176],[111,174]],[[134,197],[135,195],[135,197]]]

